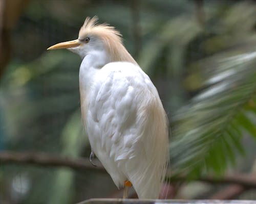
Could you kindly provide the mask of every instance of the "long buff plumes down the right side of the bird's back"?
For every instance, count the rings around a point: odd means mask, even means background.
[[[126,169],[139,198],[157,199],[169,164],[168,123],[160,99],[151,105],[146,110],[149,118],[145,119],[143,140],[138,143],[139,157],[144,154],[145,161],[133,159],[126,163]]]

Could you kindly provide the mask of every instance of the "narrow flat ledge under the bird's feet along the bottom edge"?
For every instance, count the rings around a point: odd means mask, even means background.
[[[113,199],[113,198],[92,198],[77,204],[256,204],[256,200],[139,200],[139,199]]]

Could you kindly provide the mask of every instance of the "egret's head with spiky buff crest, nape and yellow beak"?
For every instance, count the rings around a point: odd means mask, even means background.
[[[107,23],[97,24],[98,17],[87,17],[78,35],[78,39],[55,44],[48,49],[68,48],[81,58],[95,52],[105,52],[109,62],[127,61],[137,64],[122,44],[119,31]]]

